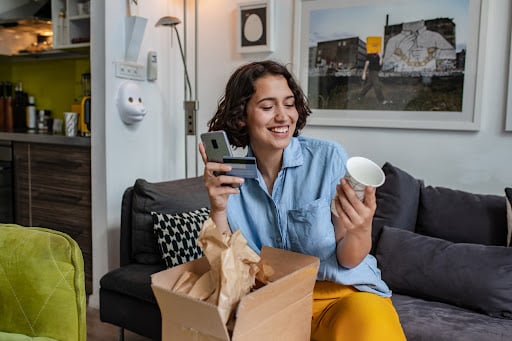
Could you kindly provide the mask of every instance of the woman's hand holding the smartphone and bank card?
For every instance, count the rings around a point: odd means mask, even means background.
[[[228,198],[231,194],[240,193],[237,187],[244,182],[244,179],[236,176],[215,175],[229,172],[231,166],[218,162],[208,162],[202,143],[199,144],[199,153],[205,165],[203,182],[210,200],[210,217],[222,231],[229,231],[226,215]]]

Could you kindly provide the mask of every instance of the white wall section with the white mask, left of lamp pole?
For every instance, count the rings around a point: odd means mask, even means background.
[[[179,50],[175,37],[171,47],[169,28],[154,27],[160,17],[182,9],[173,8],[166,0],[151,0],[132,12],[148,19],[137,62],[146,64],[147,52],[156,51],[159,74],[154,82],[134,81],[143,89],[148,113],[130,126],[122,122],[116,106],[118,88],[129,80],[115,77],[115,63],[125,59],[127,1],[93,0],[91,10],[94,294],[90,303],[98,306],[99,279],[119,266],[124,190],[137,178],[155,182],[184,176],[184,116],[179,101],[183,91],[172,81],[174,75],[183,74]]]

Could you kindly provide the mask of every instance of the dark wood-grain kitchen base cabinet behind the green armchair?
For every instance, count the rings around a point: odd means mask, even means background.
[[[69,234],[82,250],[92,293],[90,147],[14,142],[15,222]]]

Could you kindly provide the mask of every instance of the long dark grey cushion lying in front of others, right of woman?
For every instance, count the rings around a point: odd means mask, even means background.
[[[512,319],[512,249],[452,243],[385,226],[376,252],[383,280],[401,294]]]

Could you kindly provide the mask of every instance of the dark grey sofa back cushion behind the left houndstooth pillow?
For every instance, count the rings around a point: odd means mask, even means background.
[[[201,177],[155,182],[137,179],[132,194],[132,250],[137,263],[162,263],[151,212],[176,214],[209,207]]]

